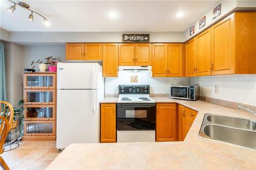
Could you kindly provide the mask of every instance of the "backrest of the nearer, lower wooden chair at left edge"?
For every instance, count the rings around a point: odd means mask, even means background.
[[[4,144],[9,130],[9,120],[4,116],[0,116],[0,154],[4,152]]]

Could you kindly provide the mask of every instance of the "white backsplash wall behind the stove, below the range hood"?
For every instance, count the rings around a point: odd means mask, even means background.
[[[138,83],[131,76],[138,75]],[[105,78],[105,94],[118,94],[118,85],[150,85],[151,93],[168,94],[171,84],[189,84],[189,78],[151,78],[148,72],[119,71],[118,78]]]

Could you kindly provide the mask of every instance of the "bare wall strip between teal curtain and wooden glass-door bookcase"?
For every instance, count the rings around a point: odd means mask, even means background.
[[[23,99],[23,47],[5,42],[7,102],[14,107]]]

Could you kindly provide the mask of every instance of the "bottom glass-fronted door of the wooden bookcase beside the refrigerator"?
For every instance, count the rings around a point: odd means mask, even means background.
[[[55,121],[24,121],[25,136],[55,136]]]

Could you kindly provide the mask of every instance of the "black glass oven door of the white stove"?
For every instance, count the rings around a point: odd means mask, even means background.
[[[155,130],[155,103],[117,104],[117,130]]]

